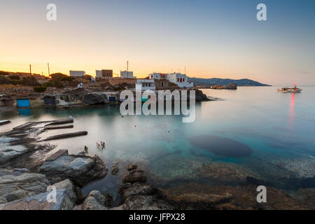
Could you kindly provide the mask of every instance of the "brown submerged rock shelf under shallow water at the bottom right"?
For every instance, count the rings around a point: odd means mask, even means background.
[[[267,187],[267,202],[258,203],[257,186],[210,186],[188,183],[163,190],[176,209],[309,209],[282,190]]]

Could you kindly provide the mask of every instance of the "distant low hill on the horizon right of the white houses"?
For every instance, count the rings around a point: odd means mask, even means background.
[[[228,85],[237,83],[237,86],[270,86],[267,84],[258,83],[248,78],[230,79],[230,78],[188,78],[188,81],[194,85]]]

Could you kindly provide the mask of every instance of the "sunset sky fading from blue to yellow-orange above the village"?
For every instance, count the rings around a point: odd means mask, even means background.
[[[46,19],[48,3],[57,21]],[[258,3],[267,21],[258,21]],[[0,0],[0,70],[315,85],[314,0]]]

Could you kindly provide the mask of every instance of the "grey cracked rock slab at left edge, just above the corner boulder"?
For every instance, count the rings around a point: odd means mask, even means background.
[[[50,185],[43,174],[4,174],[0,176],[0,204],[43,193]]]

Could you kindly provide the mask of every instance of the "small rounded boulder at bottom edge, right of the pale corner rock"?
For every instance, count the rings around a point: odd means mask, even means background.
[[[98,190],[91,191],[82,204],[83,210],[107,210],[113,207],[113,197]]]

